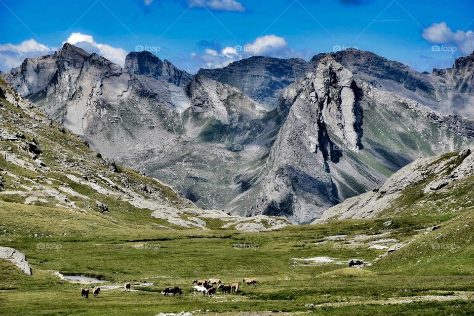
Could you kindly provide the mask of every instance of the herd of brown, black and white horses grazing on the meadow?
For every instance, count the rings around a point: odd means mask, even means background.
[[[254,278],[244,278],[242,280],[243,283],[247,285],[253,284],[254,286],[257,286],[257,280]],[[218,290],[222,291],[222,294],[231,294],[231,292],[236,293],[238,292],[238,283],[232,283],[232,284],[222,284],[222,281],[218,278],[209,278],[209,279],[203,279],[203,280],[193,280],[191,284],[196,283],[196,285],[193,287],[194,288],[194,295],[197,295],[197,293],[202,293],[202,295],[210,295],[210,294],[216,294]],[[124,285],[125,291],[130,292],[130,287],[131,283],[126,282]],[[80,288],[80,296],[89,298],[89,290],[81,287]],[[92,289],[92,295],[95,297],[99,297],[99,292],[100,292],[100,287],[96,286]],[[164,289],[163,291],[164,296],[169,296],[169,294],[173,294],[175,296],[176,294],[182,295],[183,291],[177,286],[169,286]]]

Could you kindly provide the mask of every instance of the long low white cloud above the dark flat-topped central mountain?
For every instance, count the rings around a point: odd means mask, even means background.
[[[191,58],[198,68],[222,68],[237,60],[251,56],[270,56],[277,58],[309,58],[311,51],[297,51],[288,42],[276,35],[266,35],[245,45],[227,46],[224,49],[205,49],[204,53],[193,52]]]

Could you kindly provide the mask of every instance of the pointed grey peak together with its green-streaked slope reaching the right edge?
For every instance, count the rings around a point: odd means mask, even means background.
[[[278,111],[286,120],[254,212],[293,222],[325,218],[331,205],[379,187],[385,176],[375,165],[396,171],[430,152],[473,144],[474,120],[443,116],[355,79],[332,55],[285,90]],[[463,124],[449,123],[458,118]]]

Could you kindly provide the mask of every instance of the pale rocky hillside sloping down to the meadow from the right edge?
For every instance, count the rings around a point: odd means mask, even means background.
[[[349,198],[324,211],[315,223],[333,219],[396,216],[397,212],[413,206],[404,205],[403,198],[409,200],[409,196],[418,195],[417,203],[423,205],[428,203],[426,200],[430,200],[430,194],[440,190],[444,192],[443,197],[455,197],[458,195],[456,190],[470,186],[469,182],[461,180],[468,177],[472,179],[473,176],[472,150],[467,149],[457,155],[420,158],[392,175],[380,189]],[[457,188],[456,183],[460,183],[460,188]],[[457,201],[453,198],[451,202]],[[470,201],[464,201],[466,202]],[[435,202],[430,202],[427,206],[436,207]]]

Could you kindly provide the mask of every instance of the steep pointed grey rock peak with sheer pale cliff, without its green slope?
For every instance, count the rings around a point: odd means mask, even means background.
[[[267,177],[258,211],[277,214],[291,210],[290,219],[304,222],[337,203],[339,194],[328,161],[338,159],[334,133],[350,149],[358,150],[361,119],[356,108],[352,74],[330,56],[283,96],[295,100],[267,163]],[[299,91],[299,93],[298,93]],[[292,98],[293,95],[296,98]],[[287,104],[288,102],[282,102]]]

